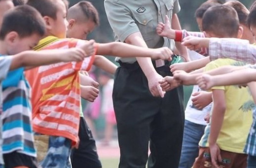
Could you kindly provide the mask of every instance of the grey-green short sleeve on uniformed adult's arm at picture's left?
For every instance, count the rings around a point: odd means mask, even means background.
[[[105,0],[104,6],[110,25],[121,42],[129,35],[140,32],[127,7],[111,0]]]

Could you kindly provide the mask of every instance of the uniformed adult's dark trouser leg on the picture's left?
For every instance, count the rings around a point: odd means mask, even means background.
[[[120,168],[144,168],[148,157],[150,123],[161,98],[153,97],[137,63],[122,64],[115,75],[113,103],[120,147]]]

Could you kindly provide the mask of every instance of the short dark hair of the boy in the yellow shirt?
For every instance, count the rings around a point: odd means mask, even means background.
[[[236,10],[226,5],[210,7],[203,16],[203,31],[220,37],[236,37],[239,19]]]

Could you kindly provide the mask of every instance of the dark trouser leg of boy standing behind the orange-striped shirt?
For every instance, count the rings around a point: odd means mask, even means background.
[[[78,136],[78,149],[73,149],[71,154],[72,168],[102,167],[92,132],[83,117],[80,117]]]

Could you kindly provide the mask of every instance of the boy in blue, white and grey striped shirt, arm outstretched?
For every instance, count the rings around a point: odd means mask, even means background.
[[[10,10],[4,15],[0,31],[1,55],[16,54],[32,49],[45,34],[45,29],[44,20],[35,9],[29,6],[20,6]],[[85,48],[87,47],[88,45]],[[87,51],[89,51],[88,53],[91,52],[90,50]],[[3,71],[3,73],[5,74],[9,69],[13,70],[20,66],[33,67],[57,62],[80,61],[85,55],[84,51],[79,48],[44,52],[27,51],[15,55],[14,58],[6,57],[5,60],[9,61],[6,61],[5,66],[10,68]],[[35,57],[36,59],[34,59]],[[2,57],[1,60],[3,60]],[[30,121],[30,101],[28,99],[29,86],[26,85],[23,71],[24,68],[11,71],[3,81],[4,104],[3,114],[1,115],[3,126],[1,124],[1,128],[3,130],[2,149],[5,167],[36,167]]]

